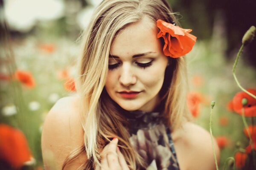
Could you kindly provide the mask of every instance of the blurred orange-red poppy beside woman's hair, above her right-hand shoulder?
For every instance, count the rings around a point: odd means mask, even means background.
[[[202,95],[198,92],[190,92],[187,95],[187,105],[192,116],[198,117],[200,112],[199,104],[202,102]]]

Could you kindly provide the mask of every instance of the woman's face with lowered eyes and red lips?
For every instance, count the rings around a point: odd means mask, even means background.
[[[152,111],[159,104],[168,65],[162,49],[156,24],[146,17],[113,40],[105,89],[123,109]]]

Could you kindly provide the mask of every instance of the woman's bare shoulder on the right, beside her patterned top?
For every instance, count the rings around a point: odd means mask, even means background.
[[[172,136],[181,170],[215,170],[212,141],[207,130],[186,122]],[[214,147],[219,160],[220,153],[215,140]]]

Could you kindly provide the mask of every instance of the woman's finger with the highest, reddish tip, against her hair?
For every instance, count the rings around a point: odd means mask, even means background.
[[[117,143],[118,139],[114,138],[108,145],[108,154],[107,154],[107,159],[108,159],[108,166],[111,170],[118,170],[121,169],[121,166],[119,164],[118,160],[118,155],[116,153],[117,149]]]

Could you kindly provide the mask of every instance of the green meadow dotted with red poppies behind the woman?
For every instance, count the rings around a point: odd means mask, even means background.
[[[1,170],[43,170],[44,119],[58,99],[76,94],[81,28],[73,28],[75,7],[69,10],[69,17],[44,20],[21,33],[2,26]],[[234,70],[239,47],[227,59],[227,37],[219,25],[209,39],[198,39],[185,56],[189,78],[186,102],[193,122],[208,131],[212,123],[212,135],[221,152],[219,170],[256,170],[256,71],[244,60],[251,43],[244,43]],[[238,38],[242,45],[242,37]]]

